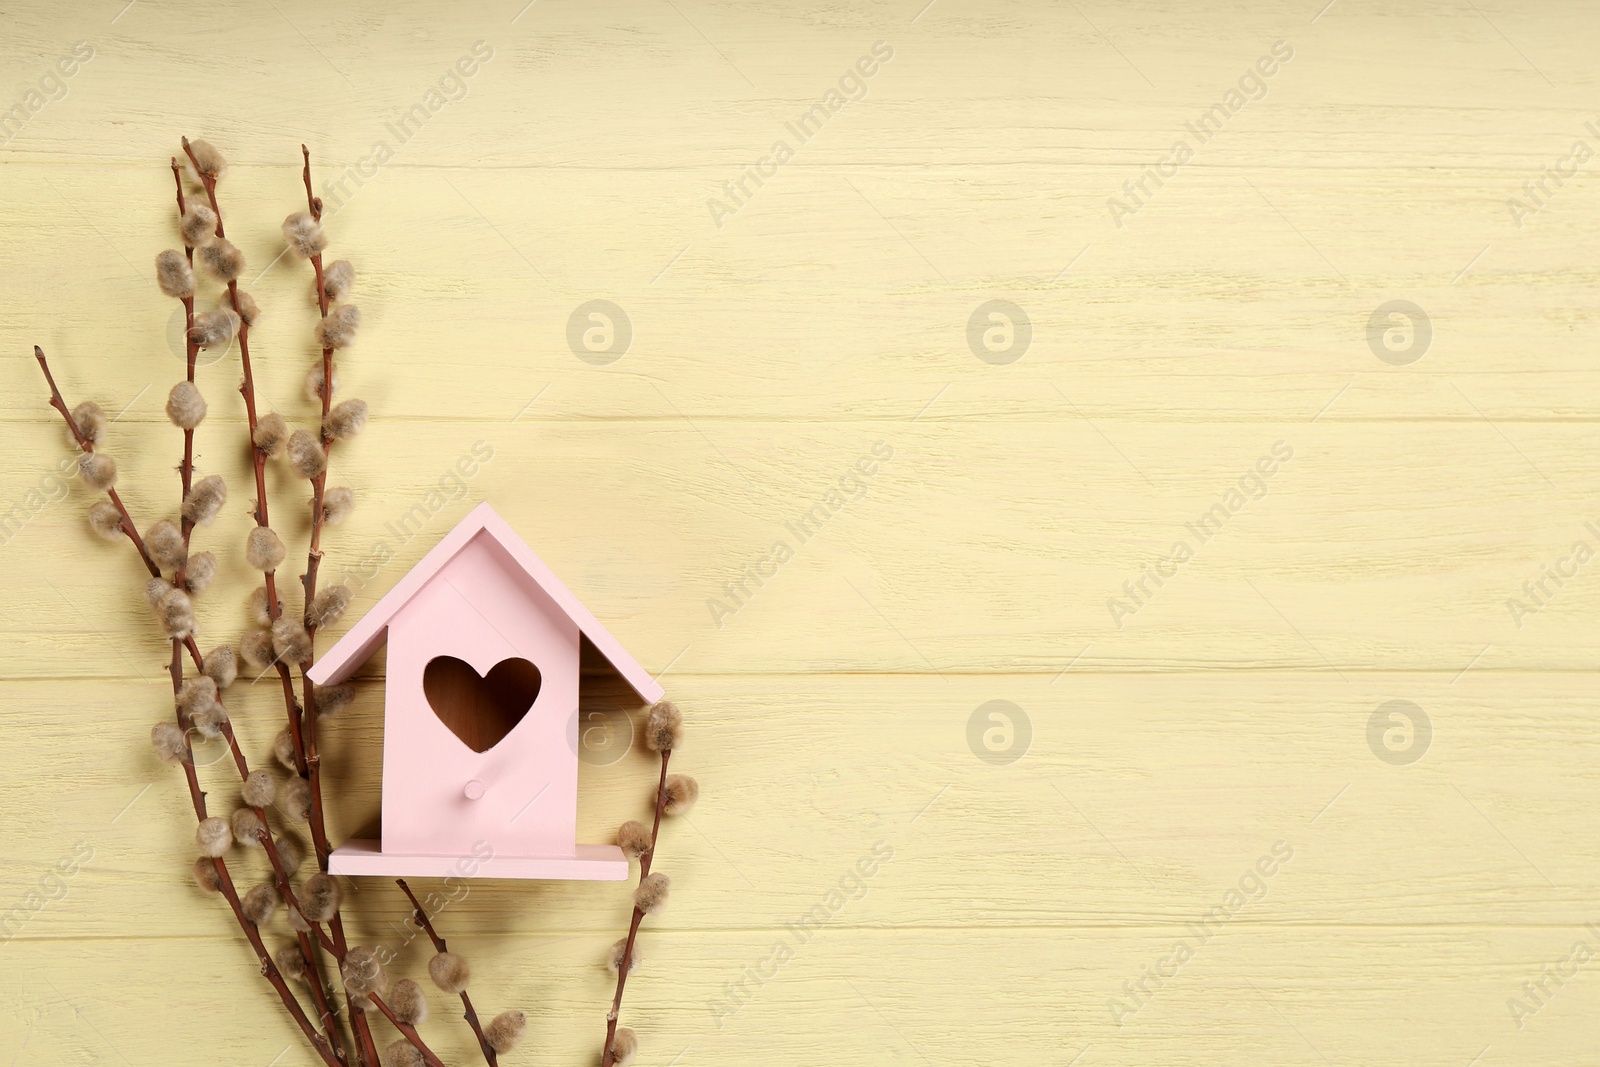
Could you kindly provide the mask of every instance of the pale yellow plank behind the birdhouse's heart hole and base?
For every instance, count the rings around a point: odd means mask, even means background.
[[[664,920],[677,929],[798,921],[878,843],[894,859],[838,925],[1182,923],[1278,840],[1294,859],[1240,923],[1578,923],[1600,877],[1589,673],[667,681],[690,710],[675,763],[706,790],[693,814],[669,822],[658,861],[678,885]],[[70,803],[8,785],[0,803],[18,830],[0,849],[0,899],[26,893],[78,840],[96,854],[67,905],[21,936],[102,937],[130,921],[147,934],[224,934],[226,913],[189,885],[182,782],[147,752],[146,731],[166,702],[160,680],[5,683],[3,693],[19,758]],[[1368,737],[1374,710],[1394,699],[1422,709],[1430,729],[1389,739],[1421,745],[1410,765],[1379,760]],[[1006,712],[1018,720],[1010,737],[1010,723],[979,713],[989,701],[1021,709]],[[237,686],[230,702],[246,753],[267,760],[282,721],[272,686]],[[58,739],[58,723],[90,709],[106,709],[93,731]],[[1405,723],[1386,718],[1394,726]],[[336,840],[378,822],[379,733],[378,683],[325,731]],[[1024,744],[1014,763],[978,755]],[[582,840],[610,840],[619,822],[643,817],[650,757],[635,749],[582,766]],[[205,779],[230,811],[230,765]],[[256,854],[238,862],[243,881],[264,873]],[[432,888],[451,899],[445,925],[464,934],[603,933],[627,893],[475,883],[456,899],[453,886]],[[357,929],[403,923],[395,889],[363,881],[355,891]]]

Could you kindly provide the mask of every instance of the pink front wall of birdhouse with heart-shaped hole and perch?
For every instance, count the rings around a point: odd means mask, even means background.
[[[578,654],[578,624],[483,533],[395,613],[386,854],[574,854]]]

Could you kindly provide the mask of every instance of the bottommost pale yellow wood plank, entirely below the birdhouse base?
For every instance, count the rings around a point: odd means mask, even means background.
[[[1587,968],[1549,989],[1538,1014],[1512,1022],[1507,1000],[1547,963],[1595,934],[1571,928],[1285,926],[1221,928],[1176,977],[1114,1022],[1112,997],[1171,958],[1181,929],[782,931],[693,939],[642,934],[626,1022],[637,1062],[842,1064],[1406,1062],[1459,1067],[1483,1053],[1510,1062],[1581,1062],[1600,997]],[[610,976],[595,961],[610,937],[461,937],[477,961],[475,998],[528,1013],[512,1062],[592,1062]],[[1194,944],[1190,937],[1190,944]],[[406,949],[395,974],[421,977]],[[205,1040],[229,1062],[310,1065],[298,1030],[238,945],[208,939],[13,944],[0,976],[10,1011],[0,1038],[24,1062],[166,1062],[197,1040],[178,1019],[226,1019]],[[66,952],[75,966],[64,973]],[[29,981],[29,971],[51,982]],[[128,981],[131,974],[163,981]],[[493,992],[488,992],[493,990]],[[219,993],[227,997],[226,1014]],[[477,989],[475,989],[477,993]],[[730,1011],[730,993],[736,1009]],[[262,1001],[259,1009],[254,1005]],[[1427,1011],[1418,1009],[1427,1005]],[[718,1025],[720,1022],[720,1025]],[[470,1035],[432,995],[424,1040],[446,1062],[472,1062]],[[389,1040],[387,1027],[378,1032]],[[26,1041],[26,1045],[24,1045]],[[1085,1051],[1086,1049],[1086,1051]]]

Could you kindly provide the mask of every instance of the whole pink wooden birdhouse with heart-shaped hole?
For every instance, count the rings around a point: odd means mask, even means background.
[[[494,509],[461,520],[310,680],[344,681],[384,641],[381,840],[334,849],[333,873],[627,877],[616,845],[578,843],[582,643],[640,701],[661,686]]]

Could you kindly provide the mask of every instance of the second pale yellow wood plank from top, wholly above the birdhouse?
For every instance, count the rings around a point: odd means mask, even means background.
[[[173,370],[176,306],[150,269],[174,240],[163,150],[138,168],[6,166],[18,195],[0,218],[29,240],[0,248],[0,266],[30,299],[0,342],[43,344],[128,397]],[[1539,162],[1526,166],[1538,174]],[[1512,171],[1410,171],[1397,190],[1357,170],[1229,165],[1186,171],[1118,230],[1104,218],[1115,168],[968,170],[813,168],[715,230],[694,198],[717,171],[597,184],[590,171],[397,166],[330,229],[360,270],[358,358],[387,371],[373,398],[389,418],[509,419],[536,395],[536,422],[1594,418],[1586,397],[1600,382],[1570,357],[1597,339],[1576,310],[1594,283],[1587,186],[1518,230],[1504,218],[1523,181]],[[253,275],[282,253],[277,222],[301,195],[288,166],[229,179]],[[1462,203],[1483,205],[1470,224]],[[670,221],[640,230],[642,205]],[[72,256],[75,288],[96,299],[45,299],[56,283],[37,275],[40,245]],[[274,390],[309,358],[307,278],[283,259],[248,285],[267,309],[254,347]],[[568,342],[570,318],[597,298],[632,328],[606,366]],[[979,360],[968,338],[990,299],[1032,326],[1008,366]],[[1432,330],[1408,366],[1368,338],[1392,299],[1422,307]],[[6,366],[0,416],[42,418],[32,368]]]

